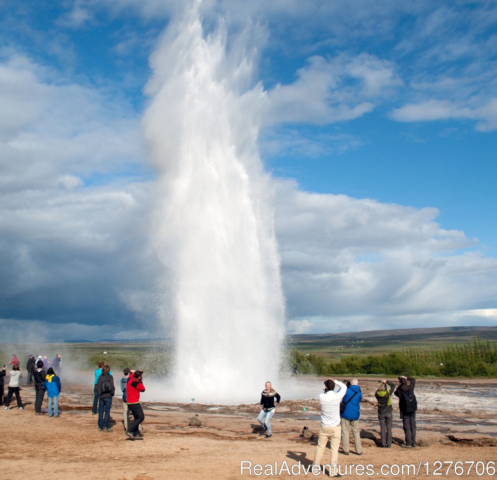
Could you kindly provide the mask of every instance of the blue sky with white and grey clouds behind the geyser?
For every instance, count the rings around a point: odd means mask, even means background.
[[[290,330],[497,325],[497,2],[246,3],[199,10],[267,98]],[[144,88],[184,5],[0,0],[4,325],[152,334]]]

